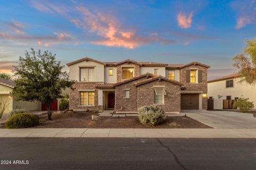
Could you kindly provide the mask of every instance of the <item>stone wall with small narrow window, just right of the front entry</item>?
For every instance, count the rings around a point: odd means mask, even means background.
[[[116,100],[115,111],[116,112],[137,112],[137,87],[134,86],[135,82],[145,80],[146,77],[140,78],[131,82],[127,82],[116,86]],[[130,89],[130,98],[125,97],[125,89]],[[123,109],[121,109],[123,107]]]

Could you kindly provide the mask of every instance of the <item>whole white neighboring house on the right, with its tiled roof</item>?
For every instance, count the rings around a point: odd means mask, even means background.
[[[249,98],[249,101],[253,101],[254,108],[256,108],[256,86],[241,81],[242,79],[235,73],[208,81],[208,97],[228,100]]]

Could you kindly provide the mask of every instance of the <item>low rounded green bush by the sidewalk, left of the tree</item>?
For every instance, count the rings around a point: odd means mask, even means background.
[[[39,118],[30,113],[17,113],[9,117],[5,123],[6,128],[30,128],[39,124]]]

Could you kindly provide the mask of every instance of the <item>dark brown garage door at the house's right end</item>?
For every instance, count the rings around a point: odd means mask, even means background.
[[[182,110],[198,110],[199,95],[198,94],[181,94],[180,106]]]

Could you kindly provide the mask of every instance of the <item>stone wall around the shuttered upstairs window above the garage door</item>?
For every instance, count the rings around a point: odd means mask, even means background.
[[[186,82],[186,71],[187,70],[202,70],[202,83],[187,83]],[[202,91],[203,94],[207,94],[207,68],[201,65],[190,65],[180,69],[180,83],[186,87],[183,91]],[[207,98],[202,98],[202,109],[207,109]]]

